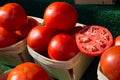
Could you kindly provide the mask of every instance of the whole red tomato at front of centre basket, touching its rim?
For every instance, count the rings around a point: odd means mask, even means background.
[[[66,61],[79,52],[75,39],[67,34],[54,36],[48,45],[48,55],[51,59]]]

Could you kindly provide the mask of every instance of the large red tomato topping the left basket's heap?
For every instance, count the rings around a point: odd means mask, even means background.
[[[27,14],[18,3],[7,3],[0,8],[0,25],[4,28],[15,31],[24,27],[27,21]]]

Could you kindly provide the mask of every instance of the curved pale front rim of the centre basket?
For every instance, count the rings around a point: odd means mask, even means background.
[[[78,54],[76,54],[74,57],[72,57],[67,61],[58,61],[58,60],[53,60],[43,55],[40,55],[39,53],[35,52],[32,48],[30,48],[29,45],[27,45],[27,49],[29,54],[38,62],[48,66],[64,68],[64,69],[73,68],[76,64],[79,63],[80,56],[81,56],[81,53],[79,52]]]

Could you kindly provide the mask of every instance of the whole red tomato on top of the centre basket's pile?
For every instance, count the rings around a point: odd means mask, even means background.
[[[58,30],[71,30],[78,20],[76,9],[66,2],[53,2],[45,9],[44,23]]]

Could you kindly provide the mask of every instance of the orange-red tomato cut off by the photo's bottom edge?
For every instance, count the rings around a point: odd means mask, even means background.
[[[25,62],[16,66],[7,80],[51,80],[47,72],[39,65]]]

